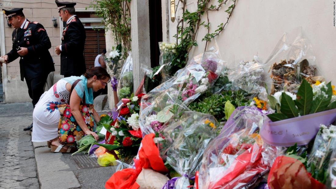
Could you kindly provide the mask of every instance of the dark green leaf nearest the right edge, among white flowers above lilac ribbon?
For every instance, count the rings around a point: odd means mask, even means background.
[[[327,91],[324,92],[328,95],[328,97],[326,98],[325,96],[321,95],[321,98],[316,98],[313,100],[309,113],[316,113],[327,110],[327,107],[330,104],[331,96],[333,95],[333,89],[330,82],[327,84],[327,88]]]

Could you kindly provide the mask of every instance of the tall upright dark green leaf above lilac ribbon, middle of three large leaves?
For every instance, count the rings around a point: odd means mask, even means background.
[[[309,114],[312,101],[313,89],[306,80],[302,80],[299,90],[297,91],[295,100],[295,104],[299,109],[300,115]]]

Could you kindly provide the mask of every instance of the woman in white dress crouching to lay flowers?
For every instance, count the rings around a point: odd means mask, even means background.
[[[71,93],[71,101],[68,102],[71,85],[78,79],[80,82],[76,85]],[[48,91],[44,92],[40,100],[36,104],[33,112],[33,142],[51,141],[52,152],[70,152],[71,148],[61,145],[58,141],[58,122],[60,113],[57,105],[70,104],[71,114],[82,131],[86,135],[92,135],[98,140],[98,135],[92,132],[86,126],[83,117],[79,111],[79,106],[85,93],[85,101],[87,104],[93,104],[93,91],[104,89],[111,77],[106,69],[102,67],[94,67],[88,69],[85,74],[80,77],[71,76],[63,78],[55,83]],[[95,122],[99,122],[100,118],[93,109],[93,118]]]

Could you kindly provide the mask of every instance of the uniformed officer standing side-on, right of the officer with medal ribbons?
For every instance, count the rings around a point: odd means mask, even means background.
[[[74,2],[59,2],[55,0],[59,16],[67,22],[62,33],[62,44],[55,48],[61,55],[61,75],[64,77],[81,76],[85,73],[84,44],[85,29],[76,15]]]

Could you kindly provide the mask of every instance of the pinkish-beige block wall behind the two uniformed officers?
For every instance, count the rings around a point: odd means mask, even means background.
[[[55,62],[55,73],[54,82],[57,82],[62,76],[60,76],[60,57],[54,53],[54,49],[57,45],[60,45],[60,23],[58,16],[58,9],[54,0],[6,0],[11,2],[11,6],[8,3],[0,0],[2,8],[12,9],[12,8],[24,8],[23,12],[26,18],[30,21],[37,21],[41,23],[47,31],[47,34],[51,41],[51,48],[49,52]],[[68,0],[72,1],[72,0]],[[91,0],[77,0],[75,8],[86,8],[90,5]],[[53,26],[51,18],[57,18],[57,28]],[[5,30],[5,47],[6,53],[8,53],[12,48],[12,32],[13,29],[7,26],[7,21],[4,18],[4,30]],[[0,26],[2,27],[2,26]],[[19,59],[7,64],[7,89],[8,94],[5,94],[5,102],[30,102],[31,98],[28,95],[28,88],[26,82],[20,80],[20,68]]]

